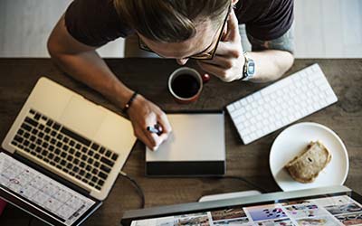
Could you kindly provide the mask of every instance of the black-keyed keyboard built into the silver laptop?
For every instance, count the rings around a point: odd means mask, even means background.
[[[33,109],[11,144],[98,190],[119,156]]]

